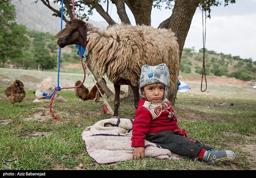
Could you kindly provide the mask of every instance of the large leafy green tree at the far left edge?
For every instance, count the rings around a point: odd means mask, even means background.
[[[22,56],[22,49],[28,45],[24,36],[26,27],[17,25],[15,6],[7,2],[0,3],[0,62],[1,66],[7,60],[15,60]]]

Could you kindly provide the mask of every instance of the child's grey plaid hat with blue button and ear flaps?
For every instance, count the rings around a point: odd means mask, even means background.
[[[170,73],[166,64],[159,64],[157,66],[144,65],[141,67],[140,74],[140,97],[146,97],[142,94],[142,88],[145,85],[152,83],[162,83],[165,85],[164,98],[167,97],[168,89],[170,87]]]

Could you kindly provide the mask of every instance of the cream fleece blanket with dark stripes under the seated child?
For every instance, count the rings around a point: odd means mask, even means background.
[[[88,154],[100,164],[132,159],[131,119],[105,119],[84,129],[82,138]],[[167,149],[145,140],[145,157],[157,159],[179,159]]]

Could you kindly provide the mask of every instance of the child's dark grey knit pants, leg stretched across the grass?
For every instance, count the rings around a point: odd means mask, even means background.
[[[197,158],[202,148],[205,150],[212,149],[212,147],[201,144],[198,140],[181,136],[169,130],[156,134],[146,134],[145,140],[156,143],[162,148],[168,149],[180,156],[187,156],[189,158]]]

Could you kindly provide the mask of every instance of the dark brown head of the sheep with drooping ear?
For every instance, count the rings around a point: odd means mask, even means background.
[[[89,26],[83,20],[72,19],[68,21],[66,27],[63,28],[54,38],[58,38],[57,44],[60,48],[64,48],[70,44],[78,44],[84,46]]]

